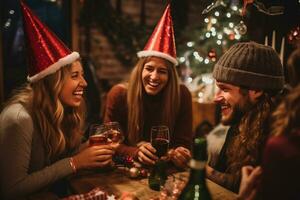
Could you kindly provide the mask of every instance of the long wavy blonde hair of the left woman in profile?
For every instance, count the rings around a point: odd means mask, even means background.
[[[37,82],[25,84],[14,92],[7,104],[20,103],[30,113],[34,129],[41,134],[50,161],[77,148],[82,136],[84,101],[78,108],[65,108],[59,99],[70,69],[67,65]]]

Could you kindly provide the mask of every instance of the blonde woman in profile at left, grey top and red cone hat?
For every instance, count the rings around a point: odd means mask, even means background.
[[[29,38],[30,50],[38,46],[38,52],[30,52],[34,62],[29,83],[14,94],[0,115],[1,199],[24,198],[41,190],[63,195],[64,177],[108,165],[114,153],[109,146],[79,150],[87,86],[79,54],[70,52],[47,27],[35,30],[41,22],[21,5],[32,19],[31,26],[25,20],[25,27],[37,31],[33,35],[40,38],[39,43]]]

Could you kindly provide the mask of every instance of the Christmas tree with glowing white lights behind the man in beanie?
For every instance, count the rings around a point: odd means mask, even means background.
[[[216,0],[203,10],[204,21],[196,29],[185,31],[186,43],[178,46],[185,82],[212,72],[217,59],[231,45],[245,39],[247,27],[241,7],[239,1]]]

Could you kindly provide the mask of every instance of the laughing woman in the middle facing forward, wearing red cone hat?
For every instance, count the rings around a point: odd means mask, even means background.
[[[192,105],[188,89],[179,84],[175,66],[174,33],[167,6],[134,67],[129,82],[108,93],[104,121],[118,121],[125,132],[125,144],[117,152],[131,155],[144,164],[158,159],[149,143],[150,130],[165,125],[170,130],[169,155],[179,167],[190,158]]]

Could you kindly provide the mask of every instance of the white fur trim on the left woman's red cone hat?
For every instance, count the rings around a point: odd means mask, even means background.
[[[35,75],[31,76],[31,77],[27,76],[27,80],[30,83],[36,82],[36,81],[44,78],[45,76],[48,76],[50,74],[55,73],[61,67],[73,63],[79,57],[80,57],[79,53],[74,51],[71,54],[69,54],[69,55],[67,55],[67,56],[59,59],[56,63],[53,63],[52,65],[50,65],[49,67],[47,67],[46,69],[44,69],[43,71],[41,71],[40,73],[35,74]]]

